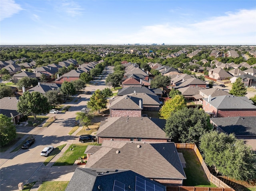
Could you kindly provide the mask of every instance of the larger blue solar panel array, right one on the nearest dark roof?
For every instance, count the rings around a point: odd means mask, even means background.
[[[136,176],[135,191],[164,191],[164,189]]]

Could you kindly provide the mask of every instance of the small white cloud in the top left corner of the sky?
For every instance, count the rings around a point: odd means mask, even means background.
[[[23,10],[19,4],[16,4],[14,0],[1,0],[0,1],[0,20],[4,20],[5,18],[10,18],[14,14]]]

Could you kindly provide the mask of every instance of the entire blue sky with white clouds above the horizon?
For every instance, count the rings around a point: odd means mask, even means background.
[[[0,45],[256,45],[255,0],[0,0]]]

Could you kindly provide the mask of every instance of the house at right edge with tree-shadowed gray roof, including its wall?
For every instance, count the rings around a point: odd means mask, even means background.
[[[220,132],[234,133],[256,151],[256,116],[210,118],[210,123]]]

